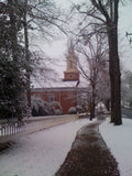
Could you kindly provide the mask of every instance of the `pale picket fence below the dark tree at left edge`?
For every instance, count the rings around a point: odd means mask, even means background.
[[[0,136],[14,135],[21,132],[22,121],[2,122],[0,123]]]

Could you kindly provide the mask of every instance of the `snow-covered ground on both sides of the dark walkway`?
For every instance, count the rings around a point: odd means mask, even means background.
[[[88,123],[89,120],[81,119],[19,139],[0,154],[0,176],[54,176],[76,132]],[[131,176],[132,120],[123,119],[123,125],[114,127],[108,119],[100,125],[100,132],[119,163],[121,176]]]

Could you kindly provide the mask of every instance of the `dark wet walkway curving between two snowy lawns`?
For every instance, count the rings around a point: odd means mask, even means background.
[[[55,176],[119,176],[118,163],[99,133],[105,118],[82,127]]]

